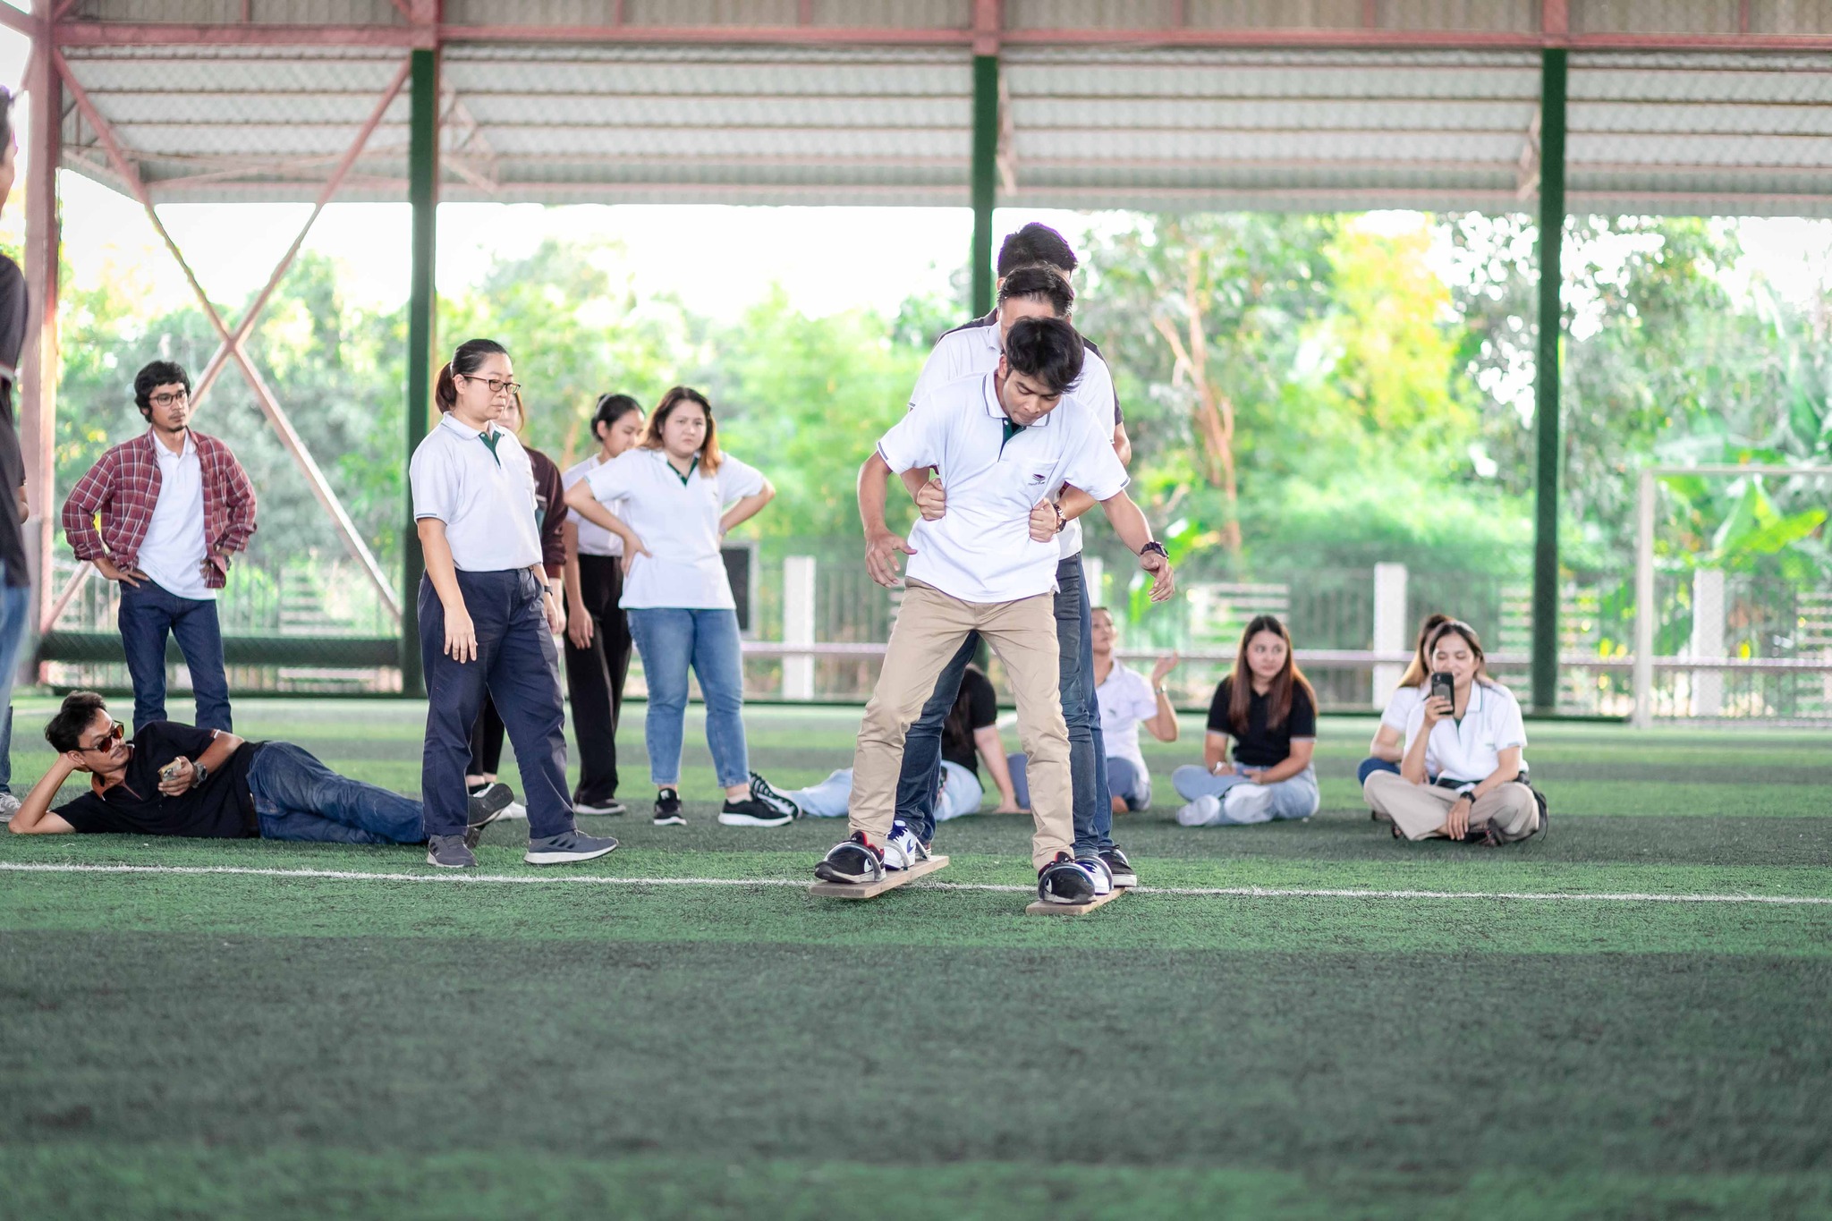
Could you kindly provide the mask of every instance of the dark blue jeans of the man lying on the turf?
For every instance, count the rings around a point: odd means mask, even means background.
[[[339,776],[304,747],[269,741],[247,767],[264,840],[420,844],[420,802]]]

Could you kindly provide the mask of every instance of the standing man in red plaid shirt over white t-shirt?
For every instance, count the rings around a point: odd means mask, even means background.
[[[165,639],[191,668],[200,729],[231,732],[216,591],[229,555],[255,533],[255,489],[229,447],[191,430],[191,377],[154,361],[134,377],[152,425],[90,467],[64,502],[79,560],[121,582],[121,644],[134,679],[134,732],[165,716]]]

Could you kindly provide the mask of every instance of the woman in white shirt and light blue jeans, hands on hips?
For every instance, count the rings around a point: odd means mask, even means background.
[[[718,820],[779,827],[795,816],[795,804],[749,769],[738,611],[720,553],[725,531],[775,494],[762,472],[718,448],[713,405],[687,386],[661,395],[636,448],[566,491],[570,509],[623,538],[619,604],[649,685],[645,745],[658,827],[687,822],[678,785],[689,668],[705,696],[705,743],[725,791]]]

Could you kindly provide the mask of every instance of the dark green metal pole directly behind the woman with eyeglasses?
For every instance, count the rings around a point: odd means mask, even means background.
[[[432,414],[434,287],[432,256],[438,238],[440,179],[440,59],[414,51],[412,134],[407,148],[407,201],[414,209],[412,287],[407,304],[407,461],[427,436]],[[405,483],[405,480],[403,480]],[[425,696],[420,670],[420,577],[427,571],[414,525],[414,494],[405,489],[407,525],[401,538],[401,694]]]

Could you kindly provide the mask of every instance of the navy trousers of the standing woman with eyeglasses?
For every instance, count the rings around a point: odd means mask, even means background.
[[[509,730],[528,802],[528,838],[573,829],[566,785],[566,705],[561,655],[553,648],[540,586],[526,567],[458,573],[458,591],[476,630],[476,659],[445,654],[445,604],[431,578],[420,582],[420,665],[427,675],[427,745],[420,763],[420,800],[427,835],[463,835],[463,774],[471,763],[471,727],[489,692]]]

